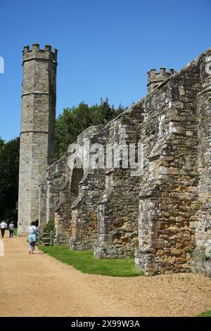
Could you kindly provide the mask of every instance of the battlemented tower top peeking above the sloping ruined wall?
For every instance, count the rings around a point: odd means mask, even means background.
[[[148,92],[153,91],[156,87],[158,87],[162,82],[165,82],[170,76],[174,75],[176,71],[173,68],[170,68],[170,71],[167,72],[165,67],[160,67],[160,72],[156,73],[156,69],[153,68],[148,71]]]

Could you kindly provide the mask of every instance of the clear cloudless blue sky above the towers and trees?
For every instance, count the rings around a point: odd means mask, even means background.
[[[210,0],[0,0],[0,137],[20,134],[25,44],[58,49],[57,115],[101,97],[129,106],[148,70],[179,70],[211,46],[210,13]]]

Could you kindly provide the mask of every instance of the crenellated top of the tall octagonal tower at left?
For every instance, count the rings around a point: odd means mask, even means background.
[[[45,45],[45,49],[39,49],[39,44],[32,44],[32,49],[28,45],[24,46],[23,61],[34,60],[34,58],[57,63],[57,49],[53,49],[52,51],[50,45]]]

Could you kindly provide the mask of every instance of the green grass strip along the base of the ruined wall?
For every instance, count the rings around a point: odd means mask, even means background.
[[[82,273],[94,273],[113,277],[134,277],[143,273],[135,269],[134,258],[120,260],[99,260],[93,251],[71,251],[67,246],[39,246],[44,253],[73,266]]]

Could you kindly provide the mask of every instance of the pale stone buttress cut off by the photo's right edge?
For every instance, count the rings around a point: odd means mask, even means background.
[[[197,97],[198,115],[198,202],[196,220],[191,227],[196,229],[191,251],[191,266],[194,271],[211,276],[211,51],[200,61],[202,89]]]

